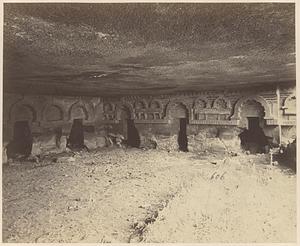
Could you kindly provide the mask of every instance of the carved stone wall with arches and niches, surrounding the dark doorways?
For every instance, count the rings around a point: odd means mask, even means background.
[[[279,116],[286,138],[295,138],[295,86],[280,91],[279,115],[272,87],[118,98],[4,94],[3,142],[11,141],[14,122],[26,120],[35,154],[63,151],[73,120],[82,119],[85,128],[92,127],[85,132],[87,144],[103,147],[109,133],[127,138],[124,122],[132,119],[141,147],[156,142],[157,148],[172,151],[178,149],[179,118],[187,118],[190,151],[236,150],[247,117],[259,117],[265,134],[278,142]]]

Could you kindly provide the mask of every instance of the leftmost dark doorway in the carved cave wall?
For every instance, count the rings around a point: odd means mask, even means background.
[[[28,121],[17,121],[14,124],[13,140],[7,146],[7,157],[17,155],[28,157],[32,150],[32,136]]]

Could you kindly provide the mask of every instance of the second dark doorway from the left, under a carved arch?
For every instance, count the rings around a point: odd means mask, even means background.
[[[67,146],[70,149],[82,149],[84,147],[82,119],[74,119]]]

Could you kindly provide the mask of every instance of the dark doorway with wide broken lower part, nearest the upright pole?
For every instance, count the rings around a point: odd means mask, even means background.
[[[241,146],[250,153],[264,153],[268,145],[268,138],[259,125],[259,117],[248,117],[248,129],[245,129],[240,135]]]

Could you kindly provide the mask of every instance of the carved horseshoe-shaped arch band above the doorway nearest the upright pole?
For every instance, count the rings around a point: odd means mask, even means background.
[[[273,115],[271,113],[271,109],[267,101],[261,96],[249,96],[240,98],[235,106],[233,115],[230,117],[232,120],[240,120],[241,119],[241,109],[242,106],[248,101],[255,101],[259,103],[264,109],[264,119],[273,119]]]

